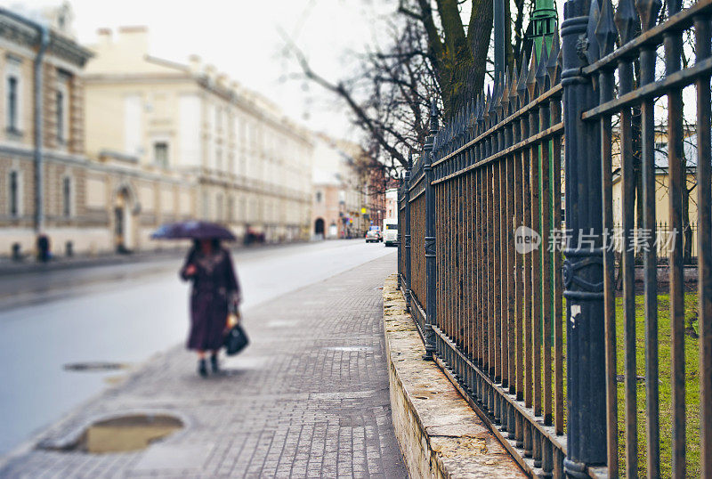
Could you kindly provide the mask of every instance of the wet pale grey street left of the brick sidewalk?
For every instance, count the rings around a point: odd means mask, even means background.
[[[363,239],[241,249],[234,254],[250,311],[395,249]],[[181,257],[0,278],[0,455],[125,375],[181,343],[188,285]],[[68,369],[69,367],[69,369]]]

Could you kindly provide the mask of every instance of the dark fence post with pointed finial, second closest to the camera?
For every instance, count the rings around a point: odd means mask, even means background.
[[[430,111],[430,136],[423,150],[423,171],[425,172],[425,281],[427,298],[425,308],[425,359],[433,359],[435,353],[435,333],[433,324],[437,318],[435,288],[437,271],[435,265],[435,191],[433,186],[433,142],[438,133],[438,112],[435,101]]]

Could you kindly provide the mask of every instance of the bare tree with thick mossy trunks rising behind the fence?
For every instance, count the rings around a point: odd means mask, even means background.
[[[511,3],[511,4],[510,4]],[[506,62],[512,67],[525,41],[523,25],[533,0],[507,0]],[[465,25],[463,8],[470,8]],[[360,74],[330,81],[312,69],[306,55],[287,37],[287,51],[307,77],[339,96],[365,137],[364,150],[373,167],[387,175],[407,165],[428,134],[429,104],[439,99],[443,118],[481,93],[490,71],[491,0],[399,0],[386,28],[389,45],[376,45],[357,59]],[[514,42],[513,42],[514,33]]]

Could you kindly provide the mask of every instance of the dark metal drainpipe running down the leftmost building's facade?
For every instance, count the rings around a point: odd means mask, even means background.
[[[35,231],[44,229],[44,173],[42,158],[42,118],[44,101],[42,101],[42,86],[44,85],[43,65],[44,52],[49,45],[49,30],[44,25],[36,25],[40,34],[40,45],[35,57]]]

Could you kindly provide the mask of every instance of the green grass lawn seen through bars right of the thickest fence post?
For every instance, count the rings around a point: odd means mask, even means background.
[[[697,294],[684,296],[685,326],[697,313]],[[618,340],[618,374],[625,371],[625,349],[623,341],[623,301],[616,300],[616,333]],[[638,376],[645,375],[645,319],[643,313],[643,295],[635,297],[636,318],[636,369]],[[659,328],[659,408],[660,408],[660,474],[662,477],[671,475],[672,451],[672,397],[670,369],[672,363],[670,299],[668,295],[658,296],[658,328]],[[700,363],[698,358],[699,340],[685,334],[685,408],[687,416],[686,453],[687,477],[700,477]],[[620,475],[625,475],[625,386],[618,386],[619,413],[619,465]],[[637,421],[638,421],[638,474],[645,476],[648,453],[645,447],[645,383],[638,382],[637,387]]]

